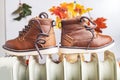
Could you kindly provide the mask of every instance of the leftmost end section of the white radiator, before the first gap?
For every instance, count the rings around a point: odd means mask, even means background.
[[[0,80],[28,80],[27,66],[19,57],[0,58]]]

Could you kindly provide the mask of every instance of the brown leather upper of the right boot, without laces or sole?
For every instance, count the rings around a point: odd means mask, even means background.
[[[81,17],[62,20],[62,33],[61,33],[61,46],[65,47],[83,47],[87,48],[99,48],[106,46],[113,42],[113,39],[108,35],[97,33],[93,29],[93,34],[85,28],[85,26],[91,29],[94,26],[89,26],[85,21],[80,21]],[[92,41],[91,38],[93,37]]]

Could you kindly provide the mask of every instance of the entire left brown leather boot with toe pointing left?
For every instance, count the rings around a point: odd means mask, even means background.
[[[41,13],[29,21],[17,38],[6,41],[3,48],[8,54],[18,56],[56,53],[53,21],[48,19],[46,13]]]

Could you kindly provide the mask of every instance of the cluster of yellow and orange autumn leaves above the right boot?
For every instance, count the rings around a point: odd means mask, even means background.
[[[59,6],[52,6],[49,9],[51,14],[56,16],[57,28],[60,28],[59,24],[62,19],[81,16],[91,10],[92,8],[85,8],[84,5],[78,4],[76,2],[63,2]]]

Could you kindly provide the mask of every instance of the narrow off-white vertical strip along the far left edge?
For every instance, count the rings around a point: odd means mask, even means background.
[[[2,49],[2,45],[5,42],[5,1],[0,0],[0,56],[3,56],[4,52]]]

